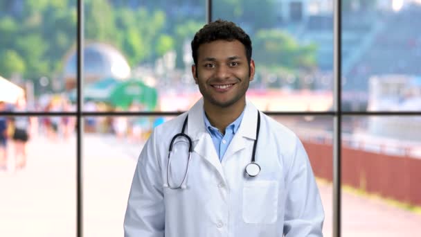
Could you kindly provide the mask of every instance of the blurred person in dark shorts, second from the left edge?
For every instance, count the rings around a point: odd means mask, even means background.
[[[20,97],[17,99],[14,112],[26,112],[26,99]],[[26,166],[26,143],[30,138],[30,118],[28,116],[15,116],[12,119],[14,132],[12,140],[15,145],[15,168],[24,168]]]

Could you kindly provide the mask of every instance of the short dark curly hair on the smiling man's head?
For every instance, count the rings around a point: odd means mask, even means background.
[[[213,42],[215,40],[240,41],[246,48],[247,62],[251,61],[251,40],[249,35],[239,26],[231,21],[224,21],[217,19],[197,31],[192,40],[192,57],[195,64],[197,64],[197,51],[201,44]]]

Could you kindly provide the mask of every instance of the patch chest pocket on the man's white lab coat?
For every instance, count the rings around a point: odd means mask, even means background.
[[[278,219],[278,182],[253,181],[243,186],[242,218],[249,224],[271,224]]]

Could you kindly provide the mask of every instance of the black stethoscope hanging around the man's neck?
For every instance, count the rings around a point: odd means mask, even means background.
[[[186,186],[184,186],[183,184],[187,177],[188,164],[190,163],[190,158],[193,151],[192,139],[188,137],[187,134],[184,133],[184,130],[186,129],[187,121],[188,121],[188,115],[186,116],[186,119],[184,119],[183,129],[181,130],[181,133],[175,134],[174,137],[172,137],[172,140],[170,143],[170,149],[168,152],[168,163],[167,163],[167,184],[164,184],[164,186],[171,189],[186,188]],[[244,169],[246,175],[248,175],[249,177],[256,177],[260,173],[260,166],[256,163],[256,146],[258,143],[259,131],[260,131],[260,113],[258,112],[258,125],[256,128],[256,140],[254,140],[254,143],[253,143],[253,153],[251,154],[251,162],[247,164],[246,168]],[[174,145],[174,141],[175,139],[177,139],[177,137],[185,137],[188,140],[188,160],[187,160],[186,173],[184,174],[183,181],[181,182],[179,186],[171,186],[170,185],[170,155],[172,152],[172,146]]]

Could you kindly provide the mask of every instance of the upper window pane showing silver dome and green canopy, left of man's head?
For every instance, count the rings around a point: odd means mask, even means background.
[[[85,1],[84,109],[187,110],[200,97],[190,42],[205,3]]]

